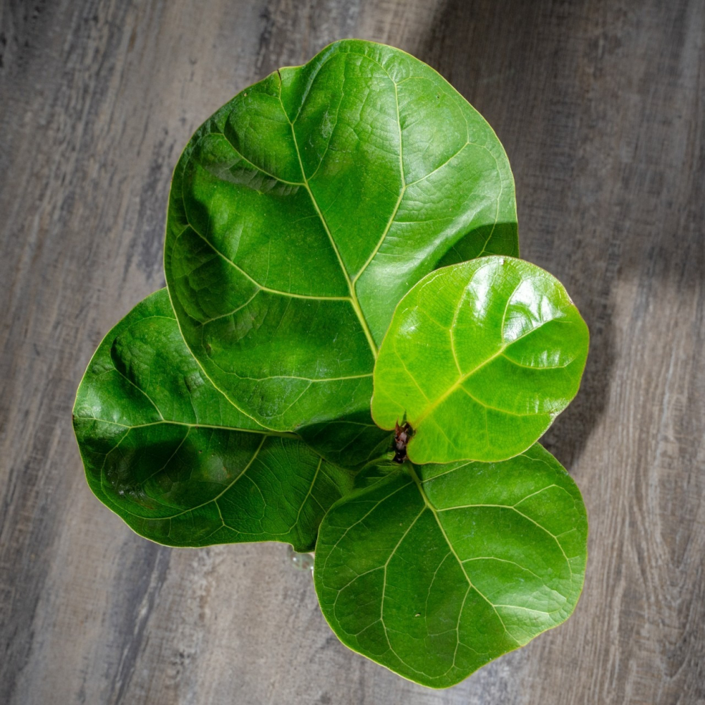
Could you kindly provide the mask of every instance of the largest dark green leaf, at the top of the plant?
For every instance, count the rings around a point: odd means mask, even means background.
[[[173,177],[167,286],[214,385],[280,431],[369,408],[400,298],[439,263],[516,255],[484,119],[403,51],[344,40],[247,88]]]

